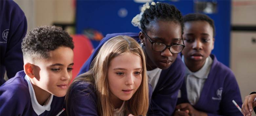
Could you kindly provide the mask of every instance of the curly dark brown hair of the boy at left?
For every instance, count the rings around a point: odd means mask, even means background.
[[[60,27],[38,26],[28,32],[21,43],[23,57],[39,55],[40,58],[49,58],[49,51],[60,46],[74,49],[72,38]]]

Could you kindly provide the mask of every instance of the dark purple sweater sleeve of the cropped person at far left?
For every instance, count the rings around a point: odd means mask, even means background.
[[[7,48],[4,57],[4,65],[8,78],[12,78],[18,71],[23,70],[23,55],[21,42],[27,33],[27,19],[24,12],[16,3],[9,1],[12,8],[10,16],[10,29],[7,40]],[[18,19],[18,20],[17,20]]]

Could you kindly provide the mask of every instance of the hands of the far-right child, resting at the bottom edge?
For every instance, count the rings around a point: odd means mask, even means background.
[[[196,110],[192,105],[189,103],[182,103],[176,106],[176,109],[180,109],[181,111],[188,110],[188,114],[190,116],[207,116],[206,112]],[[183,115],[181,115],[183,116]],[[186,115],[185,115],[186,116]]]

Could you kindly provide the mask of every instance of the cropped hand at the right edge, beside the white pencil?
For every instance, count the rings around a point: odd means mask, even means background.
[[[242,113],[244,116],[251,116],[251,112],[253,111],[253,107],[256,106],[256,102],[253,102],[255,99],[256,94],[250,94],[245,97],[245,101],[242,105]]]

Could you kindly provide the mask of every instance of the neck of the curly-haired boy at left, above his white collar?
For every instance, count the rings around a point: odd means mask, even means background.
[[[32,83],[32,81],[31,81]],[[43,106],[50,96],[50,93],[32,83],[37,102]]]

